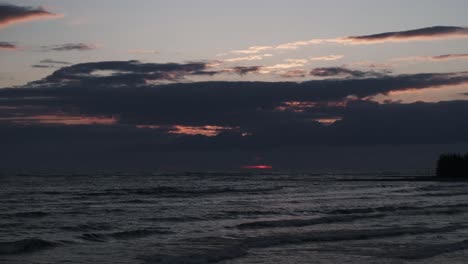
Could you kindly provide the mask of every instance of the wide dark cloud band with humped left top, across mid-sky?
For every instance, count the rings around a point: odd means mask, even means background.
[[[202,71],[203,63],[152,64],[96,62],[55,71],[21,89],[3,89],[4,106],[35,106],[36,114],[69,113],[115,116],[126,125],[228,126],[248,130],[278,120],[311,120],[320,107],[279,111],[284,102],[323,103],[356,100],[391,91],[424,89],[468,82],[468,73],[381,76],[296,82],[195,82],[147,85],[146,80],[174,80]],[[95,71],[110,71],[97,75]],[[294,106],[295,104],[289,104]],[[314,105],[300,104],[301,107]],[[286,105],[287,106],[287,105]],[[286,109],[287,110],[287,109]],[[20,112],[18,112],[20,111]],[[329,111],[329,110],[327,110]],[[322,114],[321,114],[322,113]],[[12,116],[20,116],[21,107]],[[286,121],[284,121],[286,122]]]

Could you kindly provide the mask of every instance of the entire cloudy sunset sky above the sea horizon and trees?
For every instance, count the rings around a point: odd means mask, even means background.
[[[466,1],[0,2],[0,167],[428,169]]]

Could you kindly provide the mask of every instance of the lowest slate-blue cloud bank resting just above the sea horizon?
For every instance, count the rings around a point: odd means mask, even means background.
[[[0,124],[0,166],[226,170],[261,155],[277,169],[428,169],[440,153],[465,151],[467,110],[467,102],[357,103],[331,126],[277,120],[276,126],[259,124],[263,129],[246,137],[183,136],[122,125]]]

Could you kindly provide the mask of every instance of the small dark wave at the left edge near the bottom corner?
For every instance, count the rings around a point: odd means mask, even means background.
[[[38,238],[29,238],[22,239],[13,242],[2,242],[0,243],[0,255],[15,255],[22,253],[30,253],[39,250],[44,250],[57,246],[55,242],[38,239]]]

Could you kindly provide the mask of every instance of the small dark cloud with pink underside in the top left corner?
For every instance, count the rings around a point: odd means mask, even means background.
[[[42,7],[16,6],[0,4],[0,27],[13,23],[41,18],[54,18],[60,15],[51,13]]]

